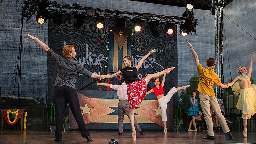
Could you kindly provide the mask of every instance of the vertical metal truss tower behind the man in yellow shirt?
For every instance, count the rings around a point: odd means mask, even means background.
[[[223,13],[224,0],[212,0],[212,5],[215,10],[215,73],[219,76],[221,83],[223,83]],[[223,98],[223,89],[216,86],[216,97]]]

